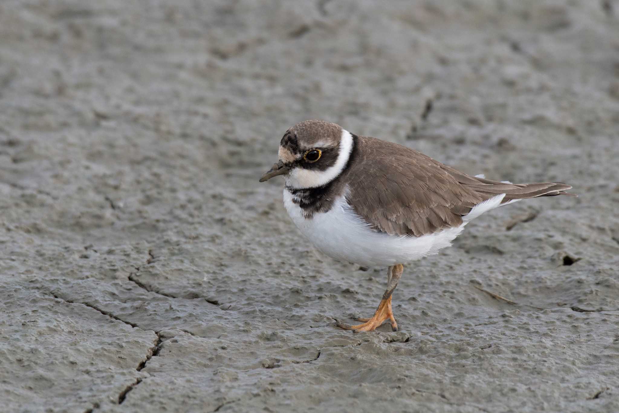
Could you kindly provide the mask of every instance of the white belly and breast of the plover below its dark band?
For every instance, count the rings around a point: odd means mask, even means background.
[[[406,264],[436,254],[451,245],[466,225],[464,222],[460,227],[422,237],[396,237],[371,230],[344,197],[337,199],[329,211],[306,219],[303,210],[292,201],[292,194],[284,189],[284,206],[301,233],[316,248],[331,258],[363,266]]]

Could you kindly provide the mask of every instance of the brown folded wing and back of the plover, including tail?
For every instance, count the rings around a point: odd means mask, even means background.
[[[347,198],[376,230],[420,237],[462,224],[462,215],[497,194],[511,199],[560,194],[560,183],[513,185],[475,178],[421,152],[359,136],[348,168]]]

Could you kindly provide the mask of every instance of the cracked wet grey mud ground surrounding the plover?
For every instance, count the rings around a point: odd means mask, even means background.
[[[386,269],[258,183],[311,118],[579,198],[343,331]],[[0,411],[618,412],[618,139],[617,1],[2,1]]]

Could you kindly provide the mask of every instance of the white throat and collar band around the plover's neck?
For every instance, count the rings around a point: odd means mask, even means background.
[[[351,151],[352,135],[350,132],[342,129],[342,138],[340,139],[340,147],[337,151],[337,160],[335,161],[335,165],[324,171],[294,168],[286,176],[286,186],[301,189],[316,188],[318,186],[326,185],[342,173],[342,170],[344,170],[344,167],[348,162],[348,158],[350,158]]]

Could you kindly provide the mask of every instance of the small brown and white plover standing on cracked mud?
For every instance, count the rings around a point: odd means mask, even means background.
[[[397,330],[391,295],[403,264],[451,245],[472,219],[521,199],[555,196],[560,182],[513,184],[470,176],[392,142],[357,136],[326,121],[288,129],[279,160],[261,182],[285,175],[284,206],[318,250],[339,261],[387,266],[387,289],[371,318],[350,326]]]

